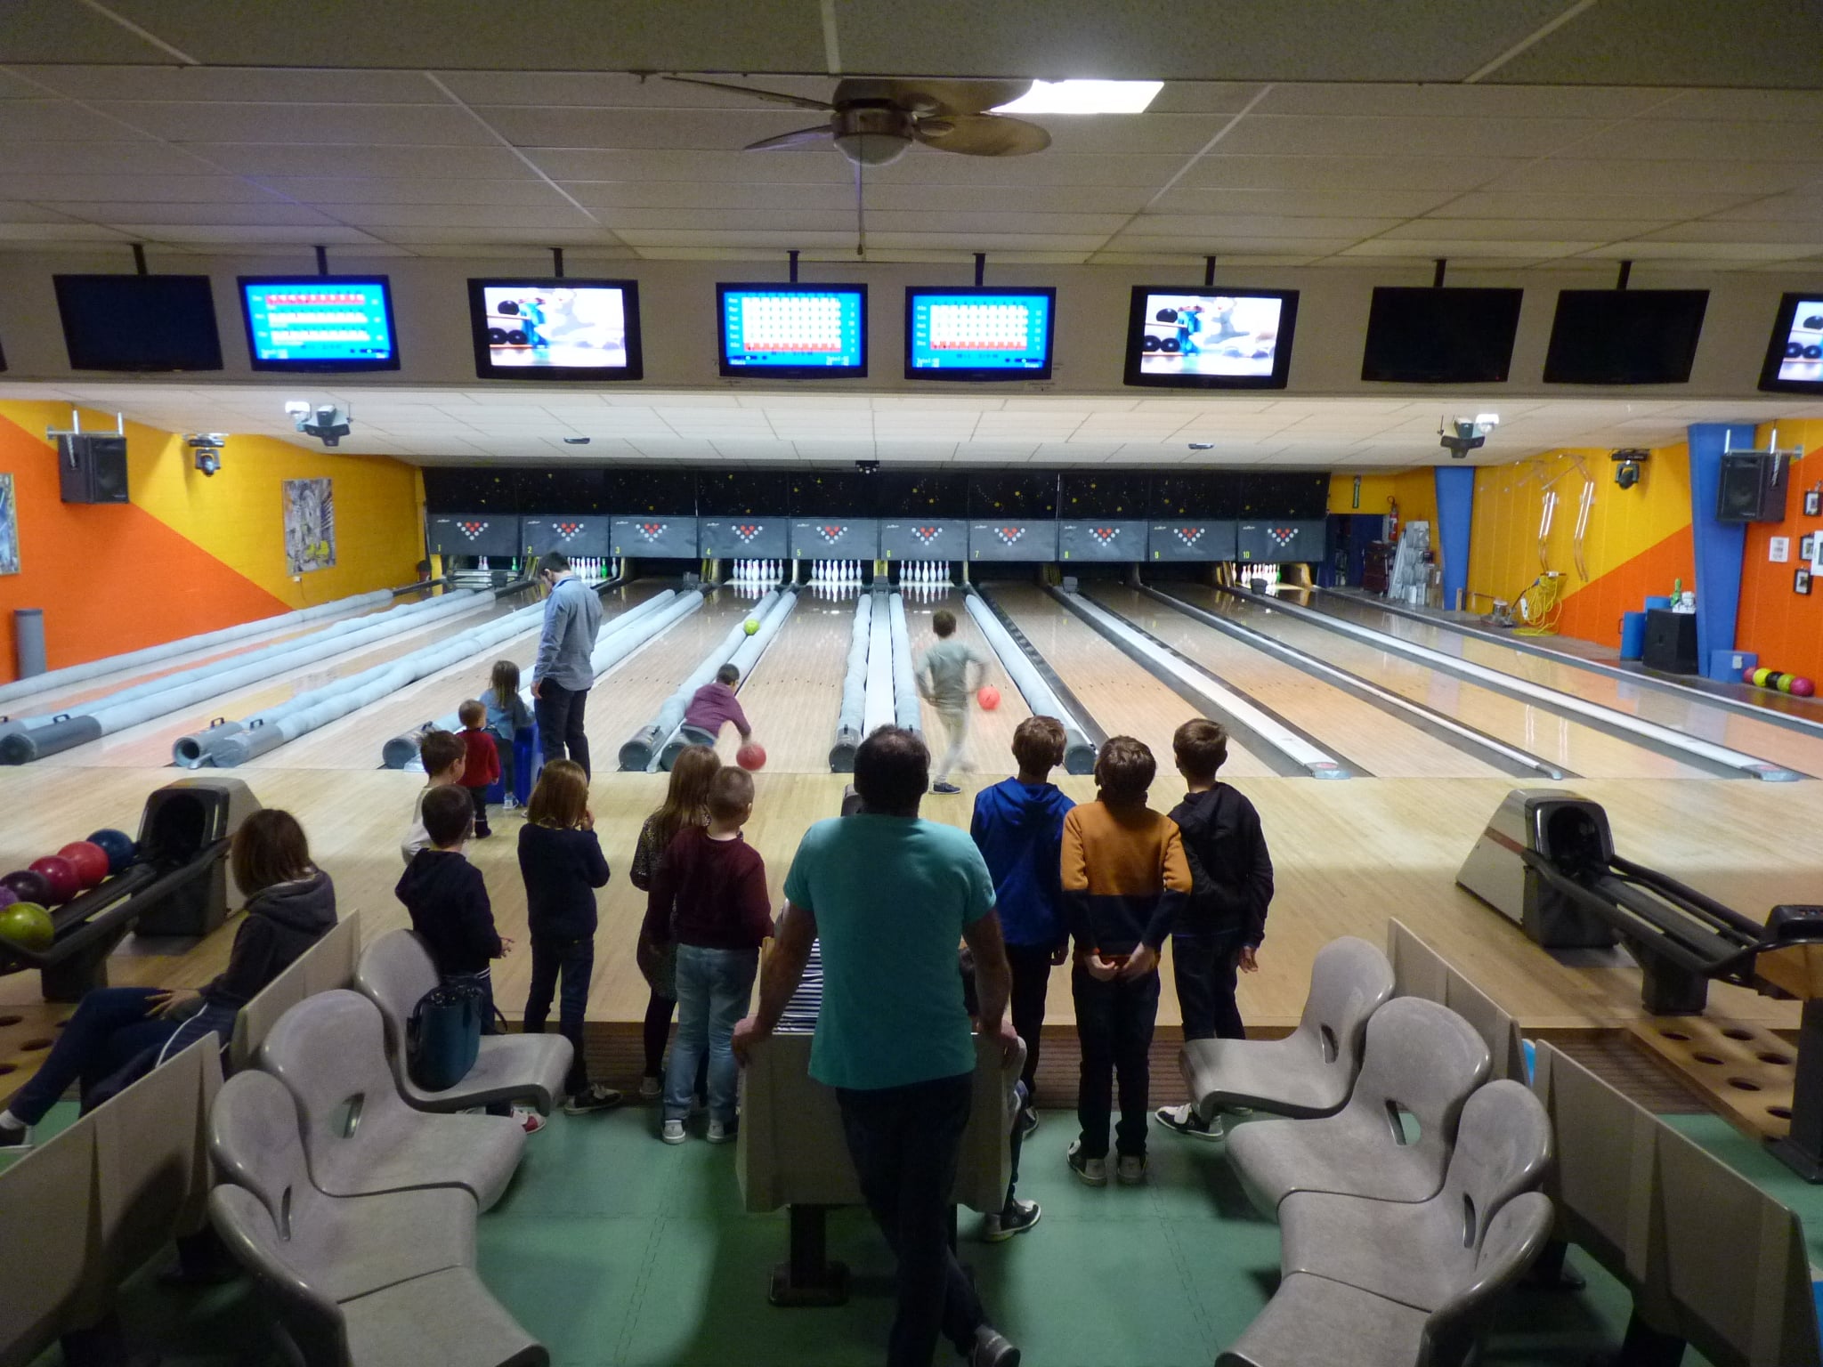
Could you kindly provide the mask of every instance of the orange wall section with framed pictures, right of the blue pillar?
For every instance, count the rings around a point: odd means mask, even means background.
[[[1765,450],[1770,437],[1770,428],[1763,427],[1756,445]],[[1779,423],[1779,447],[1805,454],[1790,472],[1785,521],[1748,523],[1741,614],[1734,640],[1739,649],[1756,653],[1768,669],[1823,680],[1823,583],[1808,596],[1792,592],[1799,540],[1823,532],[1823,518],[1805,516],[1805,490],[1823,483],[1823,421]],[[1774,536],[1790,538],[1792,558],[1783,565],[1766,560],[1766,543]]]

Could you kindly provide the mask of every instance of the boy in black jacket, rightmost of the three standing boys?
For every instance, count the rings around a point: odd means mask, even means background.
[[[1178,773],[1189,786],[1170,818],[1183,831],[1190,864],[1190,900],[1170,935],[1170,957],[1183,1010],[1185,1039],[1245,1039],[1234,1004],[1234,975],[1256,973],[1272,902],[1272,857],[1260,813],[1216,771],[1229,758],[1229,735],[1216,722],[1194,718],[1170,740]],[[1194,1106],[1159,1106],[1159,1125],[1198,1139],[1220,1139],[1221,1117],[1205,1125]]]

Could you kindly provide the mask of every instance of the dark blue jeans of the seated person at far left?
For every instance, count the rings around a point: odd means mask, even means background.
[[[82,1083],[82,1108],[93,1110],[170,1057],[215,1030],[222,1043],[233,1012],[204,1006],[182,1019],[148,1015],[164,988],[95,988],[82,997],[44,1064],[13,1094],[13,1119],[36,1125],[71,1083]]]

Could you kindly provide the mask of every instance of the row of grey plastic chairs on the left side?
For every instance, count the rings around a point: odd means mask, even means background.
[[[222,1179],[210,1219],[306,1367],[549,1362],[474,1270],[476,1218],[512,1179],[525,1130],[510,1115],[447,1112],[510,1099],[549,1110],[571,1044],[485,1037],[469,1079],[427,1094],[407,1074],[405,1028],[434,984],[414,935],[376,940],[359,992],[286,1010],[259,1068],[230,1077],[210,1110]]]

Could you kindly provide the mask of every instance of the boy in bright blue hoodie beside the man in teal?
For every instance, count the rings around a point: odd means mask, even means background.
[[[1019,776],[975,795],[968,833],[994,875],[1006,962],[1014,970],[1014,1030],[1026,1044],[1025,1088],[1037,1075],[1039,1033],[1045,1030],[1045,990],[1050,970],[1065,961],[1068,930],[1063,919],[1063,817],[1076,804],[1050,782],[1063,764],[1063,724],[1056,716],[1028,716],[1014,731]],[[1026,1105],[1023,1132],[1037,1128]]]

